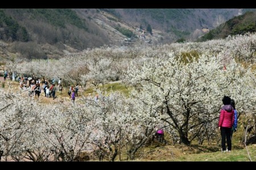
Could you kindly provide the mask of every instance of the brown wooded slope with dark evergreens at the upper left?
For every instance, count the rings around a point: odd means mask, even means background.
[[[59,58],[109,43],[95,23],[72,9],[3,9],[0,14],[1,39],[21,58]]]

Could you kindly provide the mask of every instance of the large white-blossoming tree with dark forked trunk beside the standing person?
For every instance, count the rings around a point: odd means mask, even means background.
[[[217,125],[221,99],[229,95],[237,101],[240,113],[255,104],[251,69],[234,59],[224,70],[220,56],[203,54],[184,64],[170,53],[167,59],[157,58],[128,71],[127,80],[135,86],[132,96],[160,112],[172,134],[189,144],[202,128],[208,133]]]

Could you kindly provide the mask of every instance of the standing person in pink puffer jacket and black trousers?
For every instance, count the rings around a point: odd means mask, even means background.
[[[218,130],[221,131],[221,152],[226,152],[226,143],[228,145],[228,151],[231,151],[231,129],[234,125],[234,109],[230,105],[230,97],[224,96],[222,102],[224,106],[220,110],[220,118],[218,120]]]

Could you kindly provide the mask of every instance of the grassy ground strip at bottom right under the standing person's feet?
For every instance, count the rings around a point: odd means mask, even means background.
[[[143,148],[139,154],[141,158],[135,161],[172,161],[172,162],[249,162],[245,148],[234,149],[231,152],[221,153],[218,146],[151,146]],[[218,150],[218,151],[216,151]],[[256,145],[248,146],[253,162],[256,161]],[[201,152],[196,154],[195,152]]]

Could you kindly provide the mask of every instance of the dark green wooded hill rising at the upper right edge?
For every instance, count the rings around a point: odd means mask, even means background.
[[[212,39],[224,39],[229,35],[244,34],[256,31],[256,12],[246,12],[243,15],[236,16],[217,28],[209,31],[209,33],[200,37],[199,41],[207,41]]]

